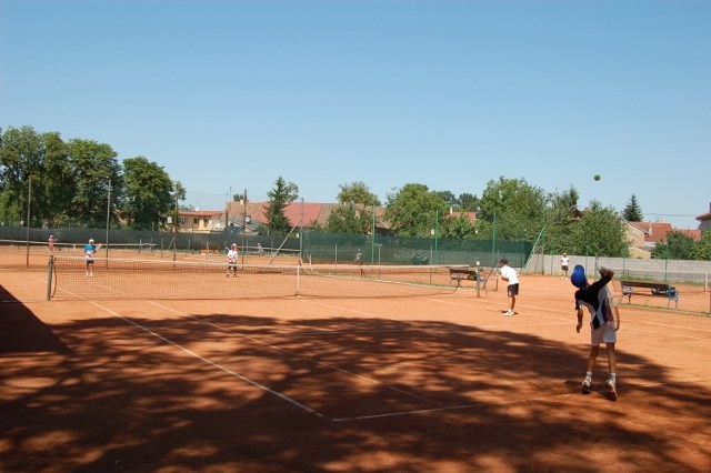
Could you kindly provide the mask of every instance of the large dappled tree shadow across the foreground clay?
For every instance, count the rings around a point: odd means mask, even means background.
[[[701,439],[711,427],[709,390],[622,383],[617,403],[600,393],[583,396],[584,344],[534,333],[227,314],[107,318],[52,329],[58,346],[71,350],[13,360],[18,374],[52,383],[2,391],[7,471],[608,471],[611,462],[627,471],[703,471],[711,464]],[[621,358],[627,378],[672,378],[644,358]]]

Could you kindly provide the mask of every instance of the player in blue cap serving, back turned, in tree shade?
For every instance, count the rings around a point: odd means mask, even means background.
[[[614,272],[612,270],[601,268],[600,279],[589,284],[588,278],[585,276],[585,269],[578,264],[573,269],[570,282],[578,288],[578,291],[575,291],[575,311],[578,314],[575,331],[578,333],[580,333],[580,329],[582,329],[583,306],[590,312],[591,348],[590,355],[588,356],[588,371],[581,384],[582,393],[590,394],[592,390],[592,372],[595,368],[598,354],[600,353],[600,343],[604,342],[608,349],[609,370],[605,390],[608,396],[615,401],[618,399],[618,390],[614,343],[618,341],[617,331],[620,329],[620,312],[608,285],[613,276]]]

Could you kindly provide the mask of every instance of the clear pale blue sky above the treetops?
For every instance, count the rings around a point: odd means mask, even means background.
[[[711,1],[0,0],[0,127],[22,125],[154,161],[201,209],[279,177],[383,203],[504,177],[697,228]]]

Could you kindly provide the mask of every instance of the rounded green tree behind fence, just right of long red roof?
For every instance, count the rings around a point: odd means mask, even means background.
[[[388,195],[385,219],[399,235],[431,238],[448,211],[439,193],[430,191],[424,184],[410,183]]]

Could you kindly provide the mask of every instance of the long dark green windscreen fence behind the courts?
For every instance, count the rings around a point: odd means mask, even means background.
[[[228,232],[212,233],[172,233],[159,231],[131,231],[111,229],[31,229],[30,244],[46,250],[47,239],[52,234],[57,239],[56,250],[81,252],[91,238],[104,249],[134,250],[136,253],[179,253],[214,252],[226,253],[231,243],[237,243],[240,253],[257,252],[257,244],[267,254],[301,254],[304,262],[311,263],[351,263],[358,250],[364,264],[415,264],[415,265],[493,265],[500,258],[507,258],[514,268],[527,263],[532,242],[507,240],[460,240],[460,239],[418,239],[391,235],[365,235],[346,233],[323,233],[304,231],[302,236],[294,232],[290,238],[277,235],[233,235]],[[21,244],[27,240],[27,229],[0,227],[0,245]],[[107,236],[109,244],[107,245]],[[7,242],[7,243],[3,243]],[[108,252],[109,256],[111,251]]]

